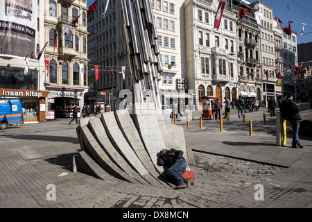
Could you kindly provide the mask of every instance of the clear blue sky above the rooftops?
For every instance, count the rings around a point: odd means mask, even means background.
[[[94,1],[87,0],[87,7]],[[260,2],[272,8],[273,16],[278,17],[285,26],[288,27],[288,21],[293,21],[291,30],[297,33],[297,44],[312,42],[312,0],[260,0]],[[300,35],[302,23],[306,26],[304,34]]]

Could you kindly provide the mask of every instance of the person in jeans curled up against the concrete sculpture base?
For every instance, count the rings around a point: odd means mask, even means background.
[[[176,186],[175,189],[188,187],[187,180],[182,179],[182,174],[187,169],[187,162],[183,157],[183,151],[177,151],[173,148],[160,151],[160,156],[157,160],[157,165],[168,167],[165,171],[166,177]]]

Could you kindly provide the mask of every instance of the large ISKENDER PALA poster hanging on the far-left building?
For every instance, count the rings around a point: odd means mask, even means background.
[[[35,52],[36,29],[37,0],[0,0],[0,56]]]

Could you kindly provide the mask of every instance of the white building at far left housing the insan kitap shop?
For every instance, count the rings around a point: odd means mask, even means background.
[[[14,4],[14,3],[11,3]],[[15,2],[16,6],[19,7],[19,3]],[[10,7],[6,5],[3,15],[6,14],[6,17],[3,17],[1,21],[2,24],[6,22],[15,22],[15,26],[7,28],[3,33],[6,33],[6,36],[12,37],[9,40],[8,45],[12,46],[10,53],[6,53],[6,49],[1,46],[1,54],[6,54],[6,56],[1,56],[0,54],[0,99],[20,99],[21,105],[24,112],[24,123],[35,123],[39,121],[44,121],[46,119],[46,97],[47,92],[44,89],[44,58],[37,60],[37,56],[40,52],[40,47],[42,48],[45,44],[44,39],[44,8],[45,5],[41,1],[33,1],[33,5],[28,7],[33,8],[19,8],[14,12],[28,13],[30,10],[33,15],[32,17],[27,17],[27,19],[34,22],[33,29],[29,34],[24,34],[22,31],[14,32],[13,29],[19,28],[23,30],[25,26],[24,20],[26,17],[17,17],[15,14],[12,14]],[[33,10],[35,9],[35,11]],[[12,18],[13,17],[13,18]],[[10,25],[9,25],[10,26]],[[12,29],[11,29],[12,28]],[[24,43],[17,42],[13,43],[17,38],[17,35],[28,40],[28,37],[33,37],[33,48],[30,51],[25,51],[26,47]],[[1,39],[1,41],[6,41],[6,39]],[[27,43],[25,43],[27,44]],[[21,55],[16,56],[19,52],[22,52]],[[32,58],[33,56],[33,58]],[[28,61],[28,71],[24,71],[24,62],[26,58]]]

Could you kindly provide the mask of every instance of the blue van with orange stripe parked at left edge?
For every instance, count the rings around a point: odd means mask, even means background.
[[[17,123],[24,123],[21,101],[19,99],[0,99],[0,130]]]

